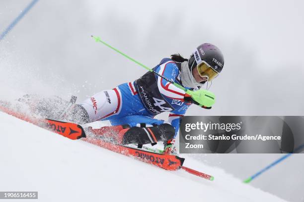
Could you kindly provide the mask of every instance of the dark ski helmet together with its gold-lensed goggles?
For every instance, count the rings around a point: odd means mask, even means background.
[[[217,77],[223,66],[223,53],[218,47],[208,43],[198,46],[189,58],[190,71],[196,67],[199,75],[208,77],[208,81]]]

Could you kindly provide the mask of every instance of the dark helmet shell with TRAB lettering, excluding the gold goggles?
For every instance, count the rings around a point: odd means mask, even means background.
[[[224,67],[224,56],[221,50],[209,43],[202,44],[194,50],[189,58],[189,69],[192,69],[202,62],[207,63],[216,72],[220,73]]]

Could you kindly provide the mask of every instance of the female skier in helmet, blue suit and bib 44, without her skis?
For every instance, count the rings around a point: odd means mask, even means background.
[[[192,104],[211,108],[214,95],[199,90],[212,81],[224,66],[222,52],[212,44],[202,44],[189,59],[179,54],[164,58],[152,70],[186,89],[196,91],[198,102],[193,96],[179,89],[153,72],[139,79],[124,83],[112,90],[101,91],[76,104],[67,113],[67,119],[83,124],[97,120],[109,120],[118,144],[156,144],[164,142],[164,153],[175,153],[174,139],[179,129],[180,118]],[[206,107],[207,106],[207,107]],[[169,111],[168,121],[153,118]]]

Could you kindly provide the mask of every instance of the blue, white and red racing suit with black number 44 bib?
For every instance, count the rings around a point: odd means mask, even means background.
[[[153,70],[182,85],[180,63],[164,58]],[[140,123],[147,126],[169,123],[175,128],[175,138],[180,117],[191,104],[184,101],[184,96],[185,91],[149,71],[133,82],[97,93],[80,105],[91,120],[109,120],[112,125],[129,124],[133,127]],[[166,111],[169,112],[168,121],[153,118]]]

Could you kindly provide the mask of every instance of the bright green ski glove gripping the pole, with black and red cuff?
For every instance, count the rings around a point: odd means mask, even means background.
[[[206,89],[200,89],[198,91],[187,90],[184,100],[210,109],[215,103],[215,95]]]

